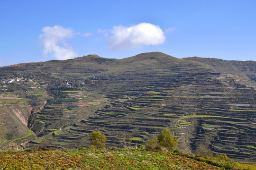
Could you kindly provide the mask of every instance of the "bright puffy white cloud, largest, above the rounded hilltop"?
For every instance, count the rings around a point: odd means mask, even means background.
[[[148,45],[158,45],[165,42],[165,34],[159,26],[150,23],[140,23],[135,26],[114,26],[113,36],[108,39],[112,50],[141,48]]]

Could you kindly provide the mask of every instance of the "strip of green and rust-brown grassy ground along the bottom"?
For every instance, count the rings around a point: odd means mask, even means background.
[[[5,170],[225,170],[173,152],[145,149],[27,150],[0,153]]]

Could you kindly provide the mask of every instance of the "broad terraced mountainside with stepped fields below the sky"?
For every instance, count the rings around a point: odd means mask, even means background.
[[[167,127],[184,152],[204,145],[256,161],[255,68],[161,52],[1,67],[0,126],[25,148],[88,147],[95,130],[107,146],[121,146],[121,135],[145,145]]]

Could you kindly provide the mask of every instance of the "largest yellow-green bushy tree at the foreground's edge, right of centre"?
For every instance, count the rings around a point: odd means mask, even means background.
[[[160,135],[157,136],[157,142],[159,145],[168,149],[176,149],[178,141],[169,129],[165,128]]]

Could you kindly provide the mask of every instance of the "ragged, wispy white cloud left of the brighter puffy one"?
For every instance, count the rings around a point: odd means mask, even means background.
[[[46,26],[42,31],[44,34],[39,37],[44,44],[44,54],[52,53],[56,59],[78,57],[78,54],[65,44],[65,40],[79,33],[73,33],[71,28],[63,28],[62,26]]]

